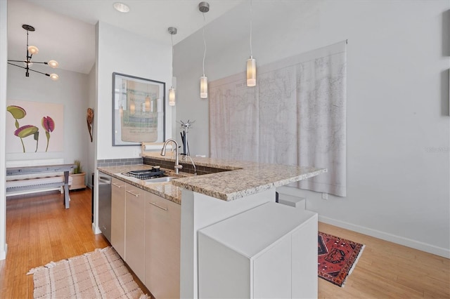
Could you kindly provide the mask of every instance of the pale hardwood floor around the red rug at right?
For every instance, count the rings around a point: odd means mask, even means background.
[[[319,231],[366,245],[345,286],[319,279],[319,298],[450,298],[450,260],[340,227]]]

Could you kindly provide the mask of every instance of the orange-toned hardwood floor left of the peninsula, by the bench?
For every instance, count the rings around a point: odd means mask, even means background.
[[[0,298],[33,298],[33,276],[27,272],[46,263],[109,246],[91,226],[91,190],[46,192],[6,200],[6,260],[0,261]]]

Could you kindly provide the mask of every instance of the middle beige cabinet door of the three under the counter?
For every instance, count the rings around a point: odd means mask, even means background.
[[[141,281],[145,281],[144,215],[145,191],[127,184],[125,191],[125,262]]]

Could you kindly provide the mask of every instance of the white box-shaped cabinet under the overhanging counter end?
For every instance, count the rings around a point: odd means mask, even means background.
[[[199,298],[316,298],[317,214],[268,202],[198,232]]]

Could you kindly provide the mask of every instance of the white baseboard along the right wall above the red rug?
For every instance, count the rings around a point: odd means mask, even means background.
[[[408,246],[414,249],[418,249],[420,251],[425,251],[428,253],[432,253],[435,255],[442,256],[444,258],[450,258],[450,250],[438,246],[434,246],[431,244],[423,243],[420,241],[416,241],[413,239],[408,239],[404,237],[399,237],[394,234],[388,234],[387,232],[381,232],[379,230],[372,230],[368,227],[362,227],[360,225],[354,225],[349,222],[335,220],[333,218],[328,218],[326,216],[319,215],[319,222],[324,222],[329,225],[335,225],[337,227],[342,227],[347,230],[352,230],[354,232],[359,232],[361,234],[367,234],[368,236],[375,237],[378,239],[382,239],[385,241],[390,241],[396,244]]]

